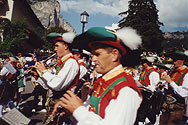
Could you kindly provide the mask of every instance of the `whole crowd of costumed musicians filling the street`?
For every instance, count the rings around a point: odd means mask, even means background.
[[[94,27],[77,36],[53,32],[47,40],[54,43],[56,53],[48,60],[35,57],[27,69],[21,53],[15,60],[2,61],[0,117],[7,104],[19,109],[24,78],[31,76],[30,107],[38,110],[41,95],[46,110],[43,124],[188,123],[187,51],[137,51],[137,56],[126,58],[142,44],[130,27],[117,31]],[[132,62],[138,65],[130,67]]]

